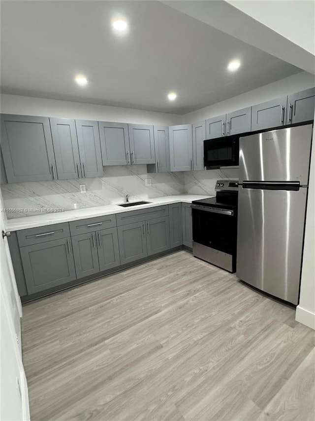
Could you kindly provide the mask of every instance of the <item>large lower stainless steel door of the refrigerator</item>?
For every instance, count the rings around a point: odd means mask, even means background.
[[[236,274],[298,304],[307,189],[240,189]]]

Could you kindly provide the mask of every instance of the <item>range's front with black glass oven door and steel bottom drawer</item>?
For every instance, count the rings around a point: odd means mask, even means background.
[[[191,205],[193,255],[234,272],[237,215],[232,210]]]

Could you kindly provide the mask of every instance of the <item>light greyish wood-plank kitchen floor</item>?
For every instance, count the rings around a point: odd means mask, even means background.
[[[314,331],[189,252],[23,314],[32,421],[314,419]]]

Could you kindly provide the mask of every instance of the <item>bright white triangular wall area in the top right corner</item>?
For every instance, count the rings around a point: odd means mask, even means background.
[[[315,55],[314,1],[231,0],[227,2]]]

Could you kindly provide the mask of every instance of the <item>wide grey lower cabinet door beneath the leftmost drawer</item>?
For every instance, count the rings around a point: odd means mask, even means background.
[[[28,294],[76,279],[70,237],[21,247],[20,252]]]

